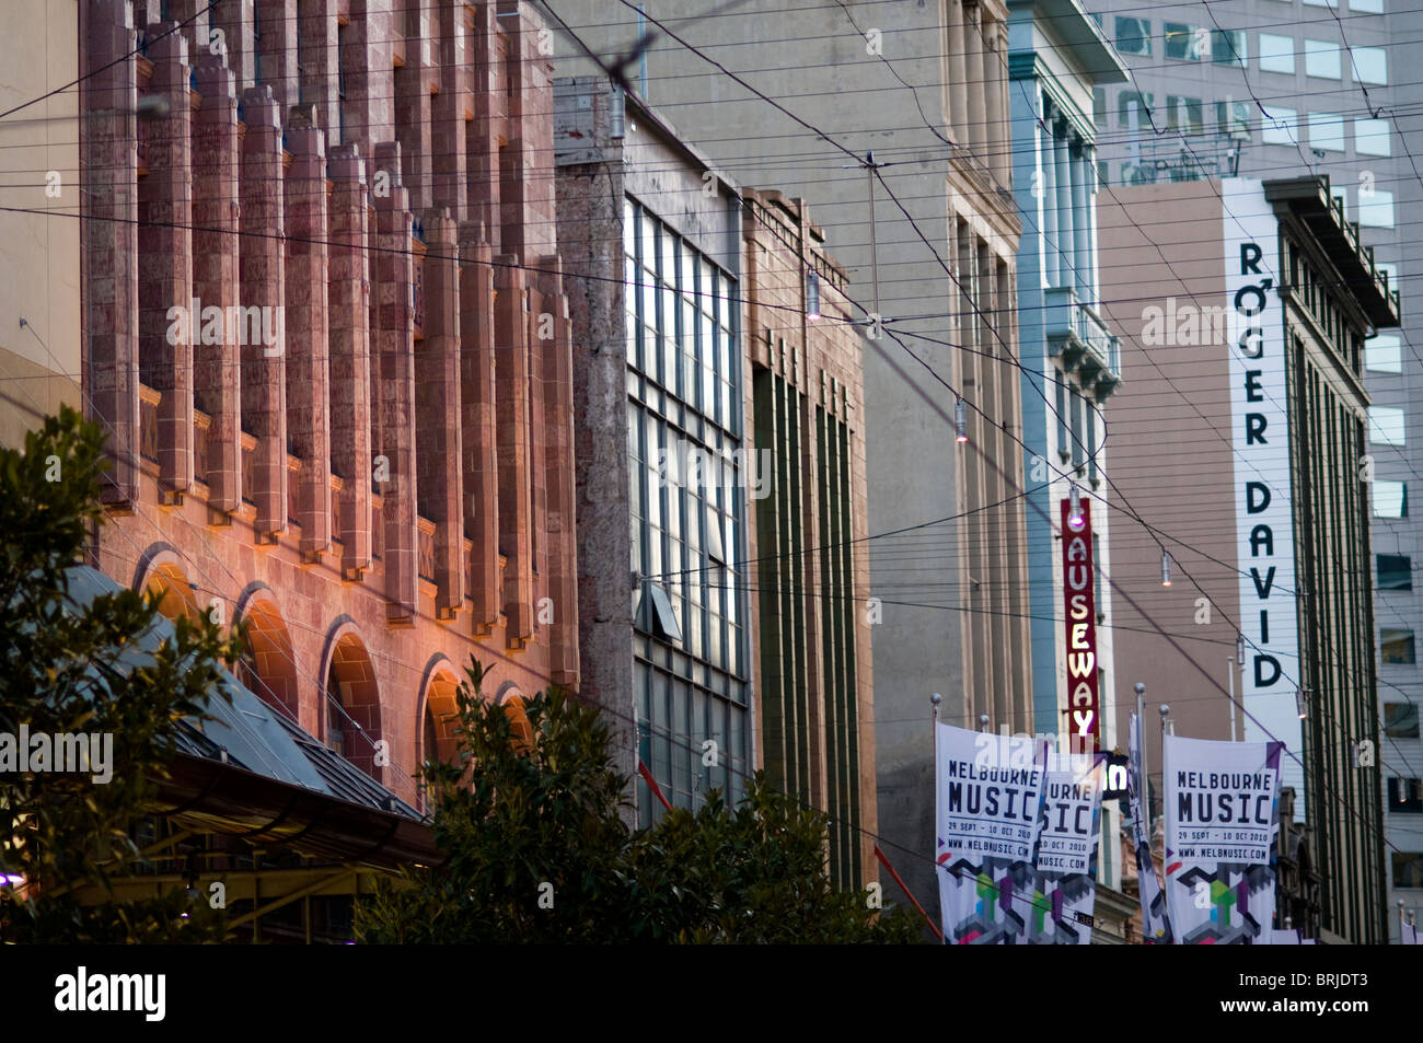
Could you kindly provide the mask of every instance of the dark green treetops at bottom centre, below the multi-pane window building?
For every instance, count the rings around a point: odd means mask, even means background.
[[[527,703],[532,743],[480,692],[457,696],[451,764],[425,764],[438,867],[410,867],[356,906],[361,942],[912,942],[899,909],[825,875],[822,814],[757,777],[632,834],[595,709],[551,690]]]

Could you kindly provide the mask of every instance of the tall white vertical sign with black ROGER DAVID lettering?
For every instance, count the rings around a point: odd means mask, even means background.
[[[1289,477],[1285,323],[1278,222],[1258,181],[1222,182],[1225,290],[1231,313],[1231,445],[1241,630],[1245,635],[1245,738],[1279,738],[1302,754],[1294,690],[1299,683],[1295,538]],[[1303,778],[1285,761],[1284,785]]]

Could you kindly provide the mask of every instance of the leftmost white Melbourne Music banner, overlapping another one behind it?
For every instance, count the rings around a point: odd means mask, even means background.
[[[935,862],[952,945],[1017,945],[1032,915],[1042,744],[935,726]],[[1015,898],[1017,899],[1015,902]]]

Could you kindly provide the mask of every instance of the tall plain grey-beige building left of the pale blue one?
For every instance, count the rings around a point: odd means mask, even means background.
[[[874,645],[878,822],[884,854],[928,901],[931,694],[958,724],[1032,726],[1007,9],[556,7],[559,75],[593,71],[589,51],[620,64],[629,90],[719,169],[814,201],[854,314],[875,334],[858,608]]]

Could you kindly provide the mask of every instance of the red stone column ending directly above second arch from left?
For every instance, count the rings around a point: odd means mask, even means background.
[[[248,134],[242,141],[242,428],[258,440],[252,468],[259,544],[286,528],[286,346],[277,334],[285,312],[282,121],[270,87],[242,94]],[[253,312],[253,309],[258,309]],[[252,317],[259,316],[253,323]]]

